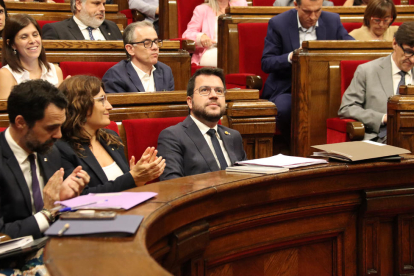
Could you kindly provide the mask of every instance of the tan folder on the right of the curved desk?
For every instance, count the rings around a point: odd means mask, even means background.
[[[411,153],[409,150],[403,148],[380,144],[368,140],[317,145],[312,146],[312,148],[322,150],[322,152],[314,152],[315,156],[330,157],[347,162]]]

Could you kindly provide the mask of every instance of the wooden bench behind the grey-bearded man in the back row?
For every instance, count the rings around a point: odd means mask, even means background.
[[[7,12],[10,15],[26,13],[36,20],[62,21],[71,18],[73,13],[70,10],[70,3],[24,3],[7,2]],[[116,24],[127,26],[127,18],[124,14],[118,13],[118,5],[105,5],[105,19]]]

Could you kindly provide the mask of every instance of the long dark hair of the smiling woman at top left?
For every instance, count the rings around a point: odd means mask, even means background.
[[[30,15],[19,13],[10,16],[6,20],[6,26],[3,30],[3,49],[1,52],[1,58],[3,66],[8,64],[13,71],[23,72],[24,70],[22,63],[20,62],[19,53],[14,53],[12,45],[14,44],[14,39],[16,38],[17,33],[30,24],[35,26],[39,32],[39,36],[41,36],[42,30],[40,29],[39,24]],[[38,60],[39,66],[43,64],[48,71],[50,70],[50,65],[46,60],[46,53],[43,44]]]

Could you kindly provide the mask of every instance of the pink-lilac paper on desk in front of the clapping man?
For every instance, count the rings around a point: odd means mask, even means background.
[[[56,201],[60,204],[78,209],[124,209],[132,207],[156,196],[153,192],[121,192],[121,193],[104,193],[104,194],[87,194],[78,196],[64,201]]]

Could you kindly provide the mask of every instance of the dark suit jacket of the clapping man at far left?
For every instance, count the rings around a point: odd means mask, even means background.
[[[32,215],[29,188],[23,172],[6,141],[0,134],[0,232],[12,238],[33,235],[40,238],[39,226]],[[45,184],[61,168],[61,157],[55,146],[45,155],[37,155]]]

